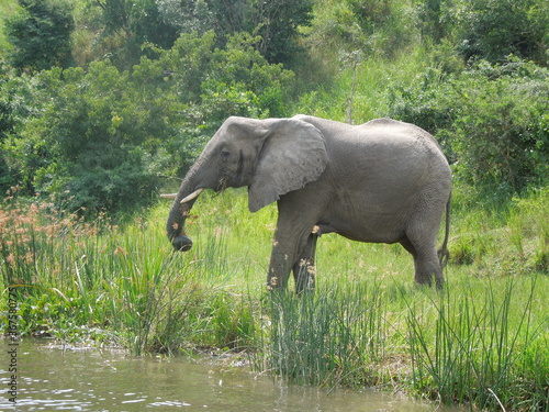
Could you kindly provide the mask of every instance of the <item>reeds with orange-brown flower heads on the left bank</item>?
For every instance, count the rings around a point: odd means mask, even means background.
[[[147,350],[167,305],[181,299],[170,288],[187,292],[190,276],[173,270],[157,232],[139,220],[123,229],[104,216],[88,223],[47,200],[8,197],[0,275],[4,290],[19,291],[20,332]]]

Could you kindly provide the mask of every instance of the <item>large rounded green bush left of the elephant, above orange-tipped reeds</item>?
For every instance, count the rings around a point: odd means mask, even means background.
[[[4,143],[27,190],[67,198],[69,209],[88,212],[150,199],[159,181],[153,156],[158,137],[173,131],[177,108],[132,80],[108,63],[35,78],[40,111]]]

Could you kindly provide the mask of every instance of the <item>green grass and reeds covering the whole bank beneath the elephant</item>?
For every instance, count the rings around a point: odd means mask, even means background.
[[[460,192],[441,293],[413,285],[400,246],[326,235],[316,293],[268,294],[276,208],[251,215],[242,191],[201,197],[187,254],[165,238],[166,203],[117,226],[15,192],[0,207],[0,276],[4,290],[19,285],[23,335],[135,354],[227,350],[291,385],[545,411],[549,190],[500,210],[460,209]],[[7,299],[0,311],[7,324]]]

